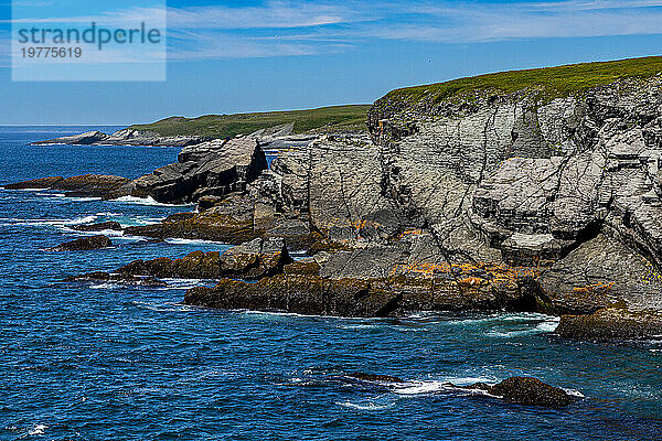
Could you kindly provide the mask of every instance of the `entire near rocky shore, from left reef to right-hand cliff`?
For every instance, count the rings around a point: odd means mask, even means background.
[[[562,315],[563,337],[651,338],[662,334],[661,90],[652,77],[546,100],[528,89],[425,106],[389,95],[369,112],[370,139],[320,136],[270,168],[264,150],[277,137],[246,136],[184,147],[177,163],[136,180],[6,187],[195,203],[124,233],[235,248],[96,273],[220,280],[189,290],[186,304],[527,311]]]

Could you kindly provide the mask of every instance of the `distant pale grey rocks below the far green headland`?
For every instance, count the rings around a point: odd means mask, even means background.
[[[122,129],[113,135],[100,131],[89,131],[86,133],[50,139],[46,141],[33,142],[39,144],[75,144],[75,146],[161,146],[161,147],[185,147],[201,143],[206,139],[203,137],[162,137],[156,132]]]

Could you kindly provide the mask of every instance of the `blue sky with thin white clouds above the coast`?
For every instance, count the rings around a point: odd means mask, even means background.
[[[0,125],[372,103],[396,87],[662,52],[662,0],[171,0],[167,82],[12,83],[10,19],[0,0]]]

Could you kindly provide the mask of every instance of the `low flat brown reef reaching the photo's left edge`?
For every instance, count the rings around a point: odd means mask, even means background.
[[[115,197],[130,180],[103,174],[85,174],[72,178],[42,178],[4,185],[7,190],[43,189],[65,192],[66,196]]]

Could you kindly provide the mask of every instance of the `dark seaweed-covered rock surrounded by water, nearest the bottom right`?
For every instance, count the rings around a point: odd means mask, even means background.
[[[461,386],[460,388],[484,390],[504,401],[522,406],[560,408],[569,406],[577,400],[577,397],[569,395],[565,390],[549,386],[533,377],[511,377],[494,386],[478,383],[471,386]]]

